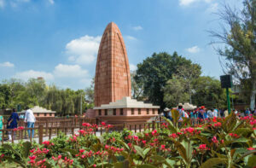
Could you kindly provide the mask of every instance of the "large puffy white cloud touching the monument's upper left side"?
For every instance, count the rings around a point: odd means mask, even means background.
[[[67,43],[66,54],[68,55],[68,61],[80,65],[90,64],[95,61],[101,38],[100,36],[91,37],[85,35]]]

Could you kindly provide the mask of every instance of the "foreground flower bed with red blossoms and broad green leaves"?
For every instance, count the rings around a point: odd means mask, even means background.
[[[132,133],[108,132],[111,125],[84,123],[78,135],[60,136],[39,145],[20,142],[0,148],[2,166],[22,167],[253,167],[256,166],[256,129],[253,116],[212,119],[189,125],[189,119],[173,123],[166,119],[161,129]],[[107,132],[100,137],[98,127]],[[0,165],[0,166],[1,166]]]

